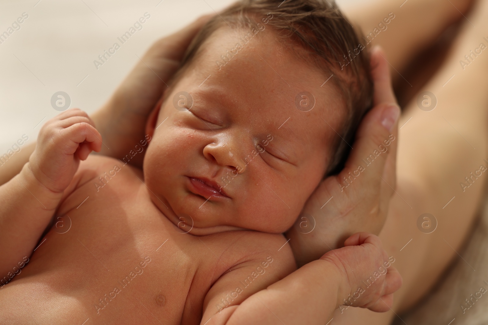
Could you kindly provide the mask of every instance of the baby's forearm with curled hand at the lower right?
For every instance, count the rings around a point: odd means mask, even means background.
[[[223,283],[219,280],[212,287],[217,290],[209,291],[213,296],[209,298],[207,295],[205,299],[209,302],[201,324],[207,321],[207,325],[325,324],[334,309],[345,302],[373,311],[389,310],[392,294],[401,286],[402,280],[390,267],[380,239],[361,232],[349,237],[345,246],[327,252],[319,260],[251,295],[240,305],[209,312],[214,305],[222,305],[220,298],[232,283],[229,278],[233,271],[229,272]],[[238,275],[242,277],[244,274],[241,271]],[[367,280],[369,283],[363,282]]]

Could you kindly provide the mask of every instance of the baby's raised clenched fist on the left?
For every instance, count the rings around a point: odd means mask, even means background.
[[[101,149],[102,136],[92,119],[80,109],[70,109],[42,126],[29,168],[44,187],[61,193],[73,179],[80,160]]]

